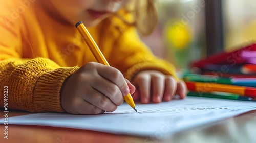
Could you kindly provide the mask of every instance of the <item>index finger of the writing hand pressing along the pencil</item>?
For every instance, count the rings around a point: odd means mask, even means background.
[[[104,65],[102,65],[98,66],[97,71],[100,76],[116,84],[119,87],[123,96],[126,96],[128,93],[130,93],[129,87],[123,77],[123,74],[118,69],[111,66],[108,66],[108,68],[106,68]]]

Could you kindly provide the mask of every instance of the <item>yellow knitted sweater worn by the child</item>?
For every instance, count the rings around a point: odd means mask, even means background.
[[[62,83],[80,66],[96,60],[75,26],[55,20],[39,1],[22,2],[0,2],[0,107],[8,97],[8,109],[64,112]],[[131,80],[147,69],[175,74],[171,64],[153,56],[134,27],[118,18],[88,30],[110,65],[125,78]]]

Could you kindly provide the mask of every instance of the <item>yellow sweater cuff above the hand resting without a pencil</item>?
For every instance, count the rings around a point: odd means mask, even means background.
[[[124,77],[131,81],[136,74],[138,74],[140,71],[143,70],[157,70],[162,72],[165,75],[171,75],[176,80],[179,80],[176,76],[175,67],[171,64],[165,65],[165,64],[157,64],[152,62],[144,62],[144,63],[138,63],[131,68],[129,68],[126,73],[124,74]]]

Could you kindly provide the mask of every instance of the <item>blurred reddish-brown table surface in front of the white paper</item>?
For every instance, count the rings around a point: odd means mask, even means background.
[[[256,106],[256,104],[255,104]],[[3,113],[3,110],[1,111]],[[8,116],[29,114],[22,111],[10,111]],[[256,142],[256,110],[237,117],[229,118],[211,125],[193,128],[167,138],[151,138],[69,129],[47,126],[8,125],[8,139],[4,138],[5,125],[1,124],[0,142]]]

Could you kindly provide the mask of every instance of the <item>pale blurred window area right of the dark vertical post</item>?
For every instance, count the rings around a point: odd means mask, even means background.
[[[223,1],[224,47],[237,49],[239,45],[256,39],[256,1]]]

